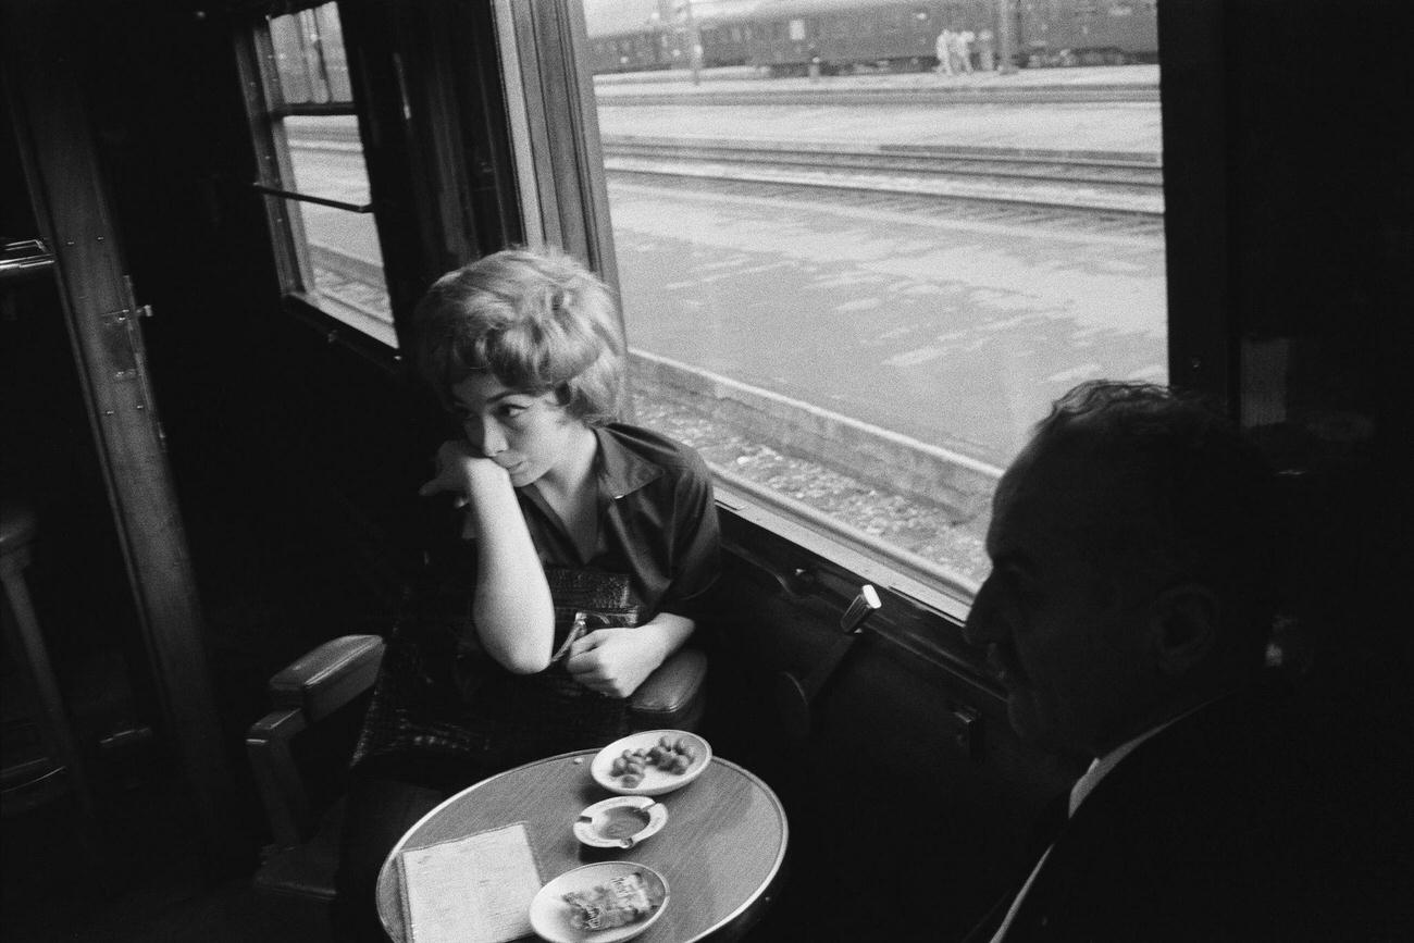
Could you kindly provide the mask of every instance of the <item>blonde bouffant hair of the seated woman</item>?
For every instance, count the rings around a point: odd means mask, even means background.
[[[448,271],[417,305],[413,362],[443,404],[491,372],[526,393],[554,393],[587,426],[619,418],[624,334],[614,295],[560,249],[505,249]]]

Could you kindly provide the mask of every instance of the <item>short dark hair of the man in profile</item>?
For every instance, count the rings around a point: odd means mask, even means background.
[[[1209,587],[1226,643],[1260,663],[1281,585],[1275,481],[1226,416],[1164,386],[1089,380],[1052,404],[1032,443],[1083,450],[1133,485],[1093,534],[1099,557]]]

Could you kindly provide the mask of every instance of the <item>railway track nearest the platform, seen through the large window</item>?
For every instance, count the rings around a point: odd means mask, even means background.
[[[611,174],[786,184],[1157,219],[1158,154],[605,136]]]

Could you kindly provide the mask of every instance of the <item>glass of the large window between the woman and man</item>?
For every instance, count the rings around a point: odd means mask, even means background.
[[[592,40],[615,4],[584,6]],[[717,28],[759,10],[691,7]],[[932,21],[970,34],[950,75],[932,38],[921,59],[839,11],[860,62],[831,58],[837,75],[810,75],[778,20],[690,88],[595,82],[638,421],[964,598],[1000,472],[1049,403],[1092,377],[1165,382],[1168,362],[1154,18],[1090,34],[1138,65],[1001,75],[1039,37],[1014,20],[1004,62],[994,10]],[[1083,48],[1069,11],[1044,25]]]

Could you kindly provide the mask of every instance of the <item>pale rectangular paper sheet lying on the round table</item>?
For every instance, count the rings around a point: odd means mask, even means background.
[[[413,943],[506,943],[530,936],[540,869],[526,823],[403,851]]]

